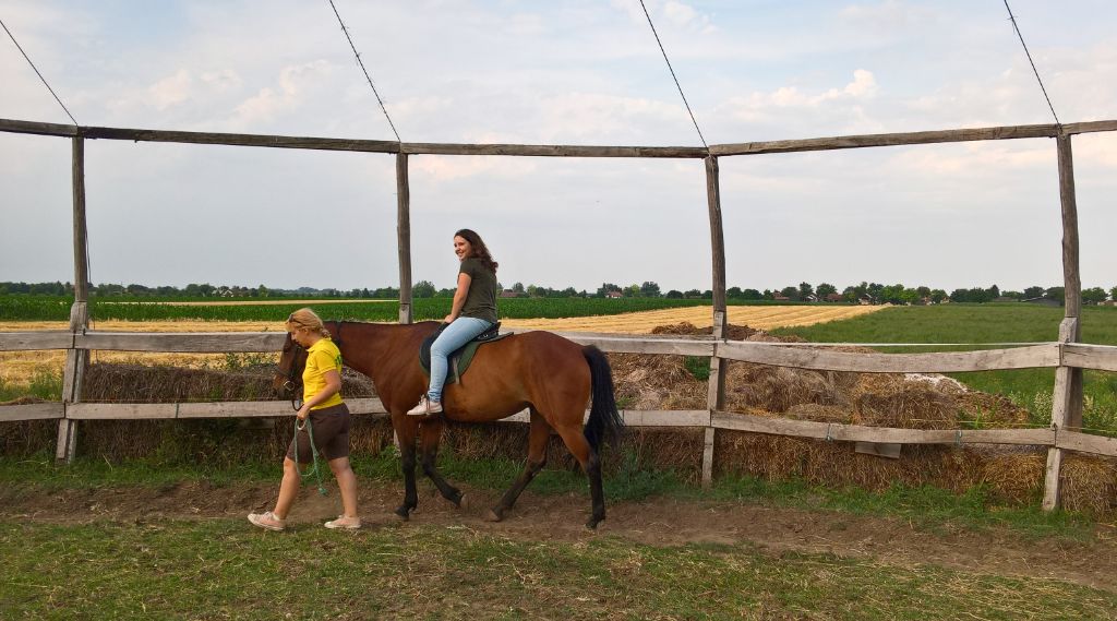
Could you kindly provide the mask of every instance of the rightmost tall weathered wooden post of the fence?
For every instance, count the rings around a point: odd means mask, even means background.
[[[1062,203],[1062,279],[1063,319],[1059,325],[1059,343],[1075,343],[1081,336],[1082,280],[1078,266],[1078,203],[1075,200],[1075,162],[1070,135],[1057,136],[1059,150],[1059,198]],[[1059,353],[1062,360],[1062,350]],[[1060,365],[1054,372],[1054,394],[1051,404],[1051,427],[1056,439],[1063,429],[1082,427],[1082,370]],[[1063,449],[1048,449],[1047,476],[1043,485],[1043,508],[1059,507],[1062,489]]]

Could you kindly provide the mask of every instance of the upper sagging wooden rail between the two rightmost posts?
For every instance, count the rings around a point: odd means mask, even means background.
[[[1059,345],[1048,343],[1011,350],[941,352],[927,354],[846,353],[804,347],[783,347],[775,343],[717,343],[717,356],[820,371],[857,373],[957,373],[995,369],[1059,366]]]

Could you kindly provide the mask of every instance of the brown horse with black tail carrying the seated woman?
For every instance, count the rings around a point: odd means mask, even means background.
[[[325,322],[345,365],[372,379],[400,442],[403,467],[403,504],[397,515],[408,519],[419,504],[416,491],[416,439],[419,439],[423,472],[442,496],[461,506],[462,494],[442,478],[435,466],[443,417],[460,422],[491,422],[525,408],[531,411],[527,462],[488,518],[499,520],[524,488],[546,464],[551,430],[562,437],[590,479],[592,515],[586,526],[595,528],[605,518],[599,451],[603,440],[618,446],[623,421],[613,401],[609,360],[594,346],[582,346],[548,332],[516,334],[483,345],[460,383],[442,392],[442,414],[408,415],[419,402],[429,380],[419,365],[419,347],[439,324],[412,325]],[[306,352],[284,343],[276,388],[294,389],[302,378]],[[585,408],[593,398],[590,418]],[[584,424],[583,424],[584,421]]]

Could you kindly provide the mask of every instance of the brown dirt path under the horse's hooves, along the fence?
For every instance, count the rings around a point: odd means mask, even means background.
[[[772,555],[830,553],[900,566],[934,564],[1117,590],[1117,532],[1105,526],[1105,532],[1090,543],[1025,541],[1011,533],[929,533],[879,517],[655,498],[611,504],[608,520],[594,534],[582,526],[589,512],[584,495],[541,496],[528,491],[504,522],[494,524],[485,522],[483,515],[498,493],[468,486],[464,490],[466,505],[458,509],[431,486],[420,487],[419,509],[404,524],[391,513],[402,498],[401,486],[362,480],[361,513],[366,528],[437,525],[521,541],[584,541],[604,535],[657,546],[744,543]],[[270,508],[275,493],[276,486],[271,485],[213,487],[204,483],[50,493],[0,485],[0,519],[73,524],[240,518],[248,512]],[[316,528],[336,516],[338,507],[336,490],[322,497],[313,489],[304,489],[289,520],[296,528]],[[250,527],[247,522],[245,527]]]

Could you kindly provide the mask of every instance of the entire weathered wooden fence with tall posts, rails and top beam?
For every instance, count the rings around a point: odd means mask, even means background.
[[[411,307],[411,233],[410,155],[529,155],[560,157],[701,157],[705,160],[706,194],[709,209],[713,268],[712,338],[655,338],[620,335],[571,333],[564,336],[582,344],[594,344],[605,352],[709,356],[710,378],[705,410],[623,412],[627,423],[649,427],[699,427],[706,429],[703,455],[703,481],[708,484],[714,471],[714,439],[717,429],[755,433],[817,438],[834,441],[875,445],[965,442],[1033,445],[1048,447],[1044,481],[1044,508],[1059,505],[1060,469],[1065,451],[1073,450],[1117,457],[1117,440],[1081,433],[1082,370],[1117,371],[1117,347],[1080,343],[1081,281],[1079,278],[1078,212],[1075,198],[1075,175],[1071,136],[1092,132],[1117,131],[1117,121],[1071,123],[1065,125],[1016,125],[871,134],[823,138],[753,142],[703,147],[645,146],[574,146],[522,144],[431,144],[392,141],[366,141],[275,136],[257,134],[218,134],[116,127],[86,127],[0,118],[0,132],[69,137],[73,143],[74,200],[74,271],[75,302],[67,332],[0,333],[0,351],[65,350],[63,401],[30,405],[0,407],[0,421],[58,419],[59,460],[69,461],[76,447],[76,421],[88,419],[165,419],[219,417],[274,417],[289,414],[284,402],[210,402],[210,403],[83,403],[82,384],[93,350],[140,352],[267,352],[280,346],[281,334],[144,334],[109,333],[88,329],[88,266],[86,265],[85,214],[85,141],[126,140],[214,145],[261,146],[354,151],[395,154],[398,197],[398,243],[400,267],[400,322],[412,321]],[[1024,347],[973,352],[879,354],[843,353],[812,346],[820,344],[741,343],[725,338],[725,237],[722,226],[722,199],[718,157],[757,155],[802,151],[828,151],[968,142],[1049,137],[1056,140],[1060,207],[1062,212],[1062,264],[1066,289],[1065,318],[1059,326],[1059,340]],[[1005,430],[919,430],[891,429],[813,421],[770,419],[725,411],[725,374],[728,361],[792,366],[827,371],[865,373],[962,372],[1000,369],[1056,369],[1049,429]],[[383,414],[375,399],[354,400],[360,413]],[[524,413],[505,420],[526,420]]]

